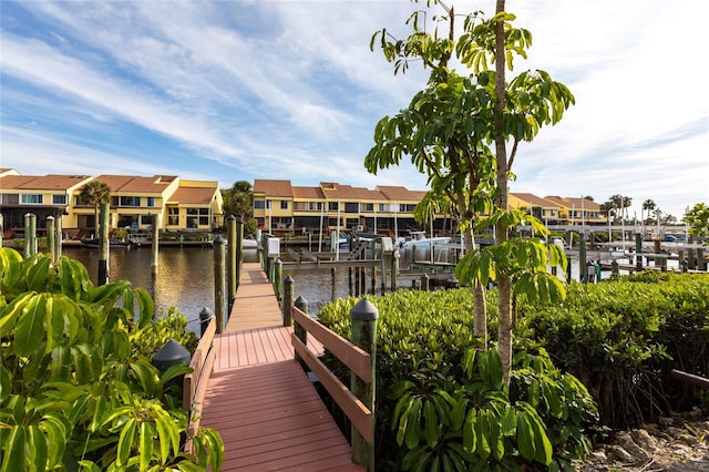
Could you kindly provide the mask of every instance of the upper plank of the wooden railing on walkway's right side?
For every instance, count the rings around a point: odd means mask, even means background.
[[[295,307],[292,309],[292,319],[302,326],[309,335],[315,336],[322,342],[322,346],[340,359],[357,377],[366,382],[372,381],[372,361],[368,352],[332,332]]]

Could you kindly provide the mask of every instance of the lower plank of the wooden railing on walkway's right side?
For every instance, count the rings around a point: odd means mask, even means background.
[[[318,380],[330,392],[332,399],[342,409],[352,425],[362,434],[367,442],[373,440],[372,412],[352,393],[335,374],[312,355],[306,345],[292,334],[290,338],[296,352],[306,361],[318,377]]]

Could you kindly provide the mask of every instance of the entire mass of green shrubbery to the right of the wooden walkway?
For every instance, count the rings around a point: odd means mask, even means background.
[[[584,459],[598,465],[596,448],[621,431],[692,409],[701,423],[709,413],[706,392],[670,374],[709,373],[706,275],[573,283],[559,304],[518,297],[508,389],[496,355],[476,349],[470,289],[403,290],[371,301],[380,312],[378,464],[389,464],[381,470],[574,470]],[[319,319],[348,336],[354,302],[329,304]],[[495,325],[491,310],[493,351]]]

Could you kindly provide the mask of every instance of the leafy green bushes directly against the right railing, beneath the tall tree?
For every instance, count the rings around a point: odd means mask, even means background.
[[[329,304],[318,317],[349,337],[356,301]],[[476,350],[470,290],[398,291],[371,301],[380,312],[378,469],[554,469],[589,451],[597,411],[584,386],[541,350],[515,356],[507,391],[496,351]]]

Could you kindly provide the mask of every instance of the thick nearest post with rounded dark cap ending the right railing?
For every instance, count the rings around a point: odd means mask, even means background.
[[[376,424],[377,318],[379,318],[379,310],[367,298],[358,301],[350,312],[352,343],[369,352],[372,362],[371,383],[364,382],[352,372],[350,374],[350,390],[372,412],[372,431]],[[363,465],[368,472],[374,471],[374,441],[367,442],[354,427],[352,427],[352,461]]]

